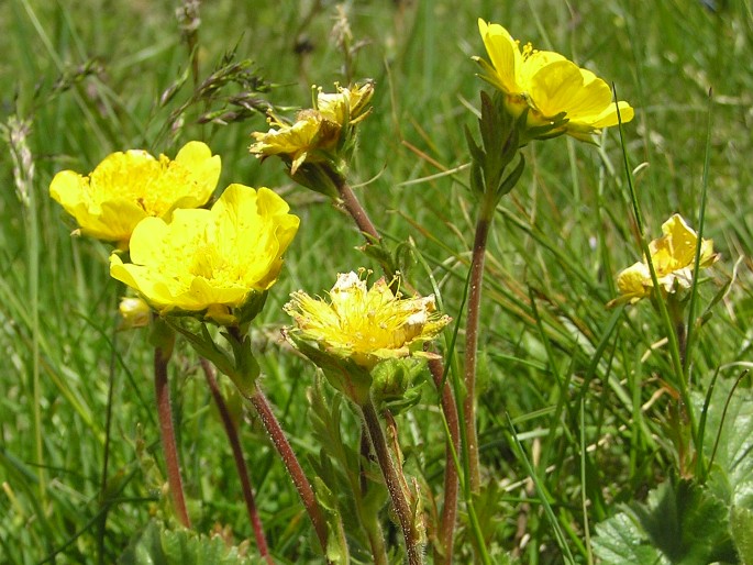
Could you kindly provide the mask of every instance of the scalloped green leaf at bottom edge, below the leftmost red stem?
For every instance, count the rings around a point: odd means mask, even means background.
[[[219,535],[167,530],[151,521],[118,560],[120,565],[251,565],[252,561]]]

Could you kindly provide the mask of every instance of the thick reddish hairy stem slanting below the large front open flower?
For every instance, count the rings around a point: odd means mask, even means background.
[[[298,496],[300,496],[303,507],[306,508],[306,511],[313,523],[313,529],[317,532],[319,543],[321,544],[324,553],[326,553],[326,523],[324,522],[324,518],[322,517],[319,505],[317,503],[317,497],[313,494],[313,488],[311,488],[311,484],[306,477],[303,468],[301,467],[296,454],[292,451],[292,447],[290,446],[290,442],[288,442],[283,428],[272,411],[269,401],[258,387],[256,387],[254,392],[246,398],[256,409],[256,413],[258,413],[264,429],[269,434],[272,443],[277,450],[277,454],[283,459],[283,464],[285,465],[288,475],[290,475],[292,484],[296,486],[296,490],[298,490]]]

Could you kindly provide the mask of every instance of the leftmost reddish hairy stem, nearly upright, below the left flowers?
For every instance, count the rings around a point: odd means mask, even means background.
[[[167,384],[167,362],[170,352],[163,347],[154,348],[154,390],[157,400],[157,418],[159,419],[159,434],[162,435],[162,446],[165,453],[165,465],[167,467],[167,483],[173,495],[173,503],[178,514],[178,520],[186,527],[191,527],[186,509],[186,498],[180,477],[180,465],[178,463],[178,447],[175,442],[175,429],[173,428],[173,412],[170,410],[170,389]]]

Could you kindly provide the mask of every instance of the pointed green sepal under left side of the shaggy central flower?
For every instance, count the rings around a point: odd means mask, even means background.
[[[346,398],[358,406],[368,400],[372,387],[372,375],[364,367],[351,359],[337,357],[310,345],[295,333],[286,333],[296,348],[319,367],[326,380]]]

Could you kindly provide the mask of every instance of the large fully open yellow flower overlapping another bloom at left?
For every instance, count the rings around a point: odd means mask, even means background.
[[[223,324],[275,284],[299,219],[268,188],[230,185],[211,210],[146,218],[131,237],[131,261],[110,256],[110,275],[159,313],[203,312]],[[254,312],[254,315],[257,312]],[[252,315],[253,317],[253,315]]]

